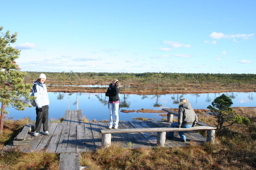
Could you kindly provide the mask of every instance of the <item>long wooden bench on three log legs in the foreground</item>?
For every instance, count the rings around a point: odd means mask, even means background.
[[[207,130],[207,142],[214,142],[216,127],[209,126],[195,126],[189,128],[177,127],[153,127],[153,128],[135,128],[135,129],[103,129],[102,133],[102,147],[109,147],[111,145],[112,133],[144,133],[144,132],[157,132],[157,146],[163,147],[166,141],[166,132],[177,131],[192,131],[192,130]]]

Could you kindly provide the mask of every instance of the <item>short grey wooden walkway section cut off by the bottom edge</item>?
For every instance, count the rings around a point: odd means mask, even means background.
[[[79,153],[60,153],[59,170],[79,169]]]

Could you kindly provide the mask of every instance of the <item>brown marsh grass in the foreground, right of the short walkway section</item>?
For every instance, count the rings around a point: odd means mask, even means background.
[[[81,153],[81,166],[88,170],[255,170],[256,114],[242,108],[240,115],[251,125],[232,125],[221,133],[216,131],[215,144],[205,142],[188,147],[122,148],[118,143],[96,152]],[[202,113],[199,121],[214,125],[212,116]],[[175,121],[174,121],[175,122]],[[205,134],[204,134],[205,135]]]

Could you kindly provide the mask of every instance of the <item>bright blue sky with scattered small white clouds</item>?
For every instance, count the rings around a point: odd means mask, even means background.
[[[256,74],[255,0],[4,0],[21,71]]]

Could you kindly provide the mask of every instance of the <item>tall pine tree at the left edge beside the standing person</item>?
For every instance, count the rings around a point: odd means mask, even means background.
[[[31,100],[30,90],[32,84],[24,84],[24,73],[15,62],[20,55],[20,50],[11,46],[16,41],[17,33],[10,34],[9,31],[3,32],[3,27],[0,27],[0,102],[1,121],[0,133],[3,132],[4,113],[6,106],[10,105],[17,110],[25,110],[30,106],[27,101]]]

